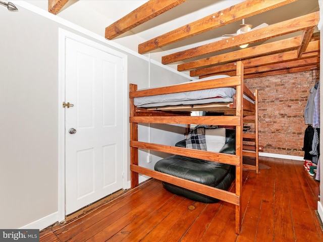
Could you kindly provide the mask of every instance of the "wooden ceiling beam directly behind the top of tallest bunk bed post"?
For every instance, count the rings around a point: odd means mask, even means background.
[[[316,46],[316,51],[314,51],[314,48],[309,46],[308,49],[305,51],[309,51],[308,53],[303,54],[301,59],[304,58],[312,58],[319,56],[319,40],[313,41],[314,44],[311,44],[311,46]],[[291,61],[296,61],[297,59],[300,59],[298,57],[298,50],[291,50],[287,52],[277,53],[277,54],[271,54],[271,55],[265,55],[261,57],[255,57],[250,59],[245,59],[242,61],[243,66],[245,69],[251,68],[251,67],[259,67],[263,65],[268,64],[278,64],[278,63],[286,63]],[[225,72],[230,72],[236,70],[235,63],[228,63],[220,66],[213,66],[198,70],[190,71],[190,76],[205,76],[205,75],[220,75],[224,74]]]

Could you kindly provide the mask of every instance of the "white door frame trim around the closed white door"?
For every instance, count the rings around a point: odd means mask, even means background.
[[[58,103],[58,117],[59,117],[59,144],[58,144],[58,213],[59,213],[59,222],[65,220],[65,108],[62,107],[62,103],[65,101],[65,47],[66,47],[66,38],[73,39],[80,43],[86,44],[88,46],[97,48],[109,54],[118,56],[122,58],[123,62],[123,80],[122,80],[122,89],[124,90],[123,95],[123,189],[128,188],[128,146],[127,146],[127,137],[128,137],[128,123],[126,122],[126,117],[128,115],[128,87],[127,87],[127,62],[128,56],[124,53],[111,49],[106,45],[103,45],[103,41],[93,41],[77,35],[75,33],[69,32],[65,29],[59,28],[59,103]],[[102,42],[102,43],[99,43]]]

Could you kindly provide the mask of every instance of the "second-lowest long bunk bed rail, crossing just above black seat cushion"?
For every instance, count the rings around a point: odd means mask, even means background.
[[[152,144],[152,143],[139,142],[139,141],[130,141],[130,146],[140,148],[140,149],[145,149],[145,150],[154,150],[154,151],[159,151],[163,153],[183,155],[187,157],[215,161],[215,162],[231,164],[231,165],[239,165],[239,162],[240,162],[240,158],[238,156],[224,154],[224,153],[216,153],[216,152],[205,151],[205,150],[187,149],[187,148]]]

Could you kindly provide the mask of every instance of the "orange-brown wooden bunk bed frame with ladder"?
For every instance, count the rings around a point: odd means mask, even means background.
[[[183,91],[195,91],[210,88],[233,87],[236,89],[236,101],[230,105],[190,105],[168,107],[167,110],[149,110],[137,108],[134,105],[134,98],[142,96],[151,96],[158,94],[177,93]],[[244,95],[249,97],[254,103],[245,100]],[[183,84],[180,87],[160,87],[148,90],[137,91],[137,85],[130,84],[130,155],[131,155],[131,187],[138,186],[138,174],[145,174],[150,177],[165,181],[167,183],[189,189],[209,197],[232,203],[236,206],[235,212],[235,230],[240,233],[241,228],[241,191],[242,191],[242,169],[248,168],[258,172],[258,113],[257,113],[257,91],[255,95],[244,85],[243,82],[243,64],[237,62],[236,75],[232,77],[201,81],[197,83]],[[190,111],[194,110],[232,110],[234,108],[235,115],[232,116],[190,116]],[[174,111],[171,111],[174,110]],[[249,115],[244,116],[244,112]],[[253,115],[250,115],[250,112]],[[255,122],[255,132],[253,134],[244,134],[244,122]],[[220,125],[235,126],[236,128],[236,154],[224,154],[203,150],[187,149],[175,146],[167,146],[160,144],[151,144],[138,141],[138,123],[154,123],[154,124],[200,124],[200,125]],[[255,141],[254,149],[243,149],[243,139],[253,139]],[[194,183],[193,181],[179,178],[166,173],[158,172],[138,165],[138,149],[154,150],[169,154],[177,154],[192,158],[205,159],[215,162],[226,163],[236,167],[235,193],[212,188],[203,184]],[[250,147],[248,147],[250,149]],[[256,164],[243,167],[243,156],[251,156],[256,158]]]

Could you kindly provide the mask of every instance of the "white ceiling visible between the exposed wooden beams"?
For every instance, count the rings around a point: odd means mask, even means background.
[[[27,0],[25,2],[47,11],[47,0]],[[69,0],[67,5],[57,14],[57,16],[84,27],[96,34],[104,36],[105,27],[114,23],[146,2],[147,1],[137,0]],[[114,40],[107,40],[107,42],[114,41],[137,51],[139,43],[145,42],[240,2],[243,1],[187,0],[187,2],[175,7],[174,9],[137,26],[131,31],[118,36]],[[245,19],[245,23],[251,24],[253,27],[256,27],[261,23],[271,25],[316,11],[319,11],[317,0],[298,0],[280,8],[247,18]],[[160,62],[160,56],[220,40],[222,39],[223,34],[235,33],[240,28],[240,24],[241,21],[238,21],[191,37],[187,40],[165,46],[163,49],[153,51],[150,57]],[[292,36],[295,35],[296,34]],[[286,36],[284,36],[284,38],[286,38]],[[272,39],[271,41],[274,40],[275,39]],[[232,49],[230,51],[232,51]],[[219,52],[217,52],[217,54],[219,54]]]

